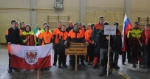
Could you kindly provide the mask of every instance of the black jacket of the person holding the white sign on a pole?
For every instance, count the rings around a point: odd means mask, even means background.
[[[104,35],[104,29],[101,29],[98,32],[98,40],[99,40],[100,48],[108,49],[108,40],[106,39],[106,36],[108,35]],[[110,35],[110,47],[112,49],[114,49],[113,43],[114,43],[113,37],[112,35]]]

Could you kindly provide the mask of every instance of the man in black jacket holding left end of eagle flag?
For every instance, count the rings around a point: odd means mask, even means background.
[[[6,35],[5,35],[6,42],[8,44],[8,55],[9,55],[8,73],[11,73],[12,70],[19,72],[19,70],[17,68],[13,68],[11,66],[11,64],[13,63],[13,62],[11,62],[11,57],[12,57],[11,44],[21,44],[21,35],[22,34],[20,32],[20,29],[18,29],[16,27],[16,21],[12,20],[11,27],[6,31]]]

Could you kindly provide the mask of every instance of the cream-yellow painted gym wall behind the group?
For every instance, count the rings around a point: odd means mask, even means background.
[[[64,0],[64,10],[55,11],[54,0],[36,0],[37,19],[41,28],[47,22],[47,16],[68,15],[73,22],[80,21],[80,0]],[[130,0],[130,21],[137,21],[138,17],[150,17],[150,0]],[[86,0],[86,24],[97,23],[99,16],[104,16],[111,25],[114,21],[119,22],[120,29],[124,18],[125,0]],[[0,43],[5,43],[5,31],[10,27],[11,20],[24,21],[30,24],[30,0],[0,0]],[[68,19],[60,19],[67,24]],[[57,27],[57,18],[51,18],[51,29]],[[146,21],[141,21],[141,25]],[[34,28],[35,26],[32,26]]]

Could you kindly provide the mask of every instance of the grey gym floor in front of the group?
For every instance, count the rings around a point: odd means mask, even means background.
[[[146,69],[132,68],[131,64],[122,65],[119,59],[120,69],[113,70],[109,76],[99,77],[99,68],[93,69],[91,65],[82,66],[77,72],[70,68],[58,68],[53,66],[49,71],[40,72],[39,79],[150,79],[150,72]],[[8,53],[6,46],[0,47],[0,79],[38,79],[38,71],[21,71],[20,73],[7,73]]]

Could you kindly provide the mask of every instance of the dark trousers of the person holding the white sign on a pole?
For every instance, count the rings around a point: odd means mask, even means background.
[[[100,73],[106,72],[108,62],[108,49],[100,49]],[[109,65],[112,69],[113,65],[113,52],[109,52]]]

